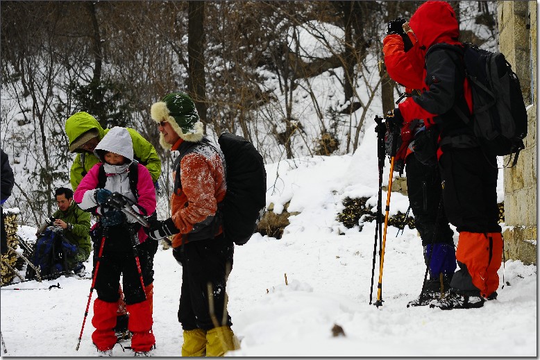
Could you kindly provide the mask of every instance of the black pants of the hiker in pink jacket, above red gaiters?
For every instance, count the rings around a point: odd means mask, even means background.
[[[101,239],[94,243],[94,271],[100,246]],[[153,282],[153,255],[155,254],[154,248],[157,248],[157,241],[146,239],[135,248],[139,257],[144,286],[148,286]],[[122,289],[126,304],[132,305],[144,301],[146,295],[142,289],[137,270],[133,245],[129,231],[123,225],[111,227],[106,236],[94,286],[99,299],[106,302],[117,302],[120,275],[123,275]]]

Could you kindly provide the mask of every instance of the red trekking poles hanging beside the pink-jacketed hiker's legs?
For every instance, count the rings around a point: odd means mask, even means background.
[[[106,202],[106,206],[115,207],[115,209],[121,210],[121,212],[124,212],[126,216],[133,218],[133,220],[137,221],[137,223],[140,223],[145,228],[149,228],[150,224],[144,216],[137,214],[133,210],[132,205],[134,205],[132,200],[129,198],[126,198],[126,196],[123,196],[117,192],[112,193],[110,195],[110,198],[108,198]],[[103,234],[101,237],[101,245],[99,246],[99,252],[96,259],[96,268],[94,269],[94,274],[92,275],[92,285],[90,286],[90,295],[88,295],[88,302],[86,304],[86,310],[85,310],[85,317],[83,318],[83,326],[81,327],[81,334],[78,336],[78,343],[77,347],[75,348],[76,351],[78,351],[79,346],[81,345],[81,338],[83,338],[83,331],[85,329],[85,323],[86,318],[88,316],[88,309],[90,308],[90,301],[92,300],[92,293],[94,292],[94,286],[96,285],[96,278],[99,270],[99,263],[101,262],[101,256],[103,255],[103,246],[105,245],[105,240],[108,237],[108,227],[103,227]],[[144,288],[144,280],[142,279],[142,271],[141,271],[141,264],[139,261],[139,254],[137,252],[137,240],[135,239],[137,237],[137,234],[135,232],[131,232],[130,239],[131,244],[133,246],[133,255],[135,255],[135,263],[137,264],[137,272],[139,273],[139,279],[141,281],[142,291],[146,294],[145,288]]]

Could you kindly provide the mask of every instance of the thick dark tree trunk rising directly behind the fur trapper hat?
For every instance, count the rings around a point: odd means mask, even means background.
[[[187,56],[188,81],[187,92],[192,96],[199,112],[199,117],[205,128],[206,119],[206,79],[205,79],[205,31],[204,31],[204,1],[189,1],[187,19]]]

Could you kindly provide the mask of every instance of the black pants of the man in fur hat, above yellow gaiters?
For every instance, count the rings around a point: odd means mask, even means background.
[[[208,284],[214,302],[214,315],[218,326],[233,323],[226,314],[223,322],[227,271],[233,268],[235,246],[223,235],[214,239],[186,243],[180,249],[182,263],[182,293],[178,308],[178,321],[184,330],[210,330],[215,327],[210,316]]]

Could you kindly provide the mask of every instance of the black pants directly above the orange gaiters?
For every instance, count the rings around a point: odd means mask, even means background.
[[[458,232],[500,232],[497,160],[480,148],[450,148],[439,159],[444,207]]]

